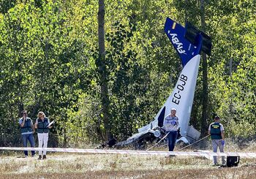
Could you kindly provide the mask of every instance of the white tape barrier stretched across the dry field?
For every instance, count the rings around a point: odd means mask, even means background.
[[[105,153],[105,154],[137,154],[137,155],[175,155],[175,156],[240,156],[244,158],[256,158],[256,153],[238,153],[238,152],[180,152],[180,151],[124,151],[124,150],[99,150],[99,149],[80,149],[80,148],[6,148],[0,147],[4,151],[46,151],[51,152],[69,152],[69,153]]]

